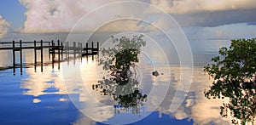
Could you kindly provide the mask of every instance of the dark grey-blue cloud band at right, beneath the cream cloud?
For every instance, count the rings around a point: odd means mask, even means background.
[[[193,14],[173,14],[181,26],[224,26],[236,23],[256,25],[256,9],[222,10]]]

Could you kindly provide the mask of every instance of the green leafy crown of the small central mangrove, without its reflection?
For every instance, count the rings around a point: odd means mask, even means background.
[[[138,60],[141,48],[146,45],[143,40],[143,35],[114,38],[113,48],[102,48],[102,58],[99,60],[99,65],[103,65],[103,70],[127,70],[131,65],[135,65]],[[115,64],[114,64],[115,63]]]

